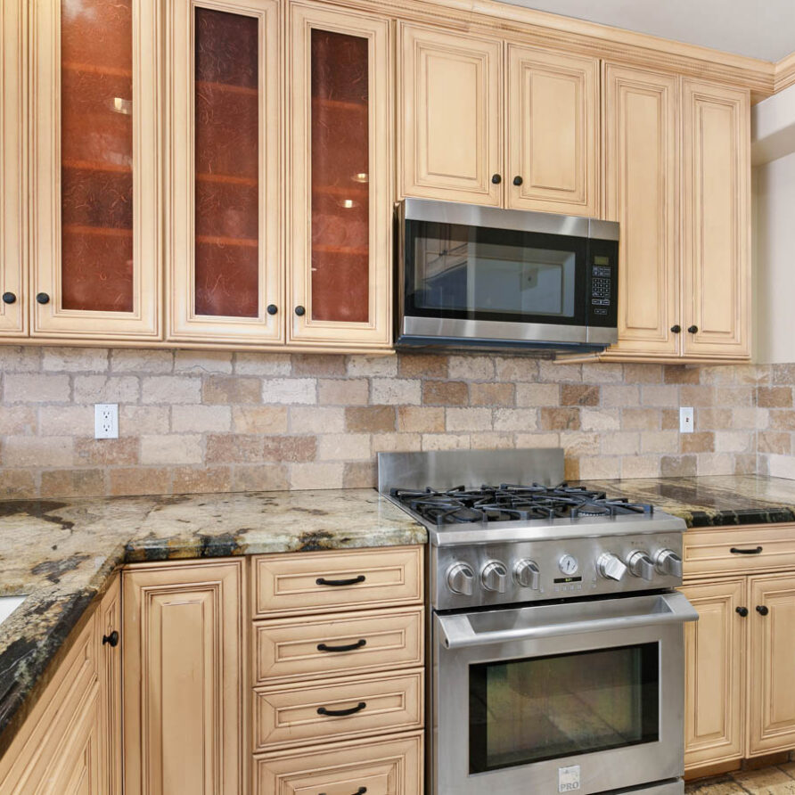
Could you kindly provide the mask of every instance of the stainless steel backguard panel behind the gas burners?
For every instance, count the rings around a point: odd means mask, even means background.
[[[378,490],[389,488],[455,488],[496,483],[553,486],[563,479],[563,450],[435,450],[425,453],[379,453]]]

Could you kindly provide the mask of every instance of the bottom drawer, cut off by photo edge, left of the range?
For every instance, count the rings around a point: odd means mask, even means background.
[[[422,734],[255,758],[255,795],[421,795]]]

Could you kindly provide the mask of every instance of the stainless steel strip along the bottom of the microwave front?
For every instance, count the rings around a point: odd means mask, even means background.
[[[463,320],[457,317],[404,316],[399,336],[490,342],[537,342],[561,345],[611,345],[618,329],[554,323],[510,323],[498,320]],[[399,341],[399,339],[398,339]],[[430,344],[430,343],[429,343]]]

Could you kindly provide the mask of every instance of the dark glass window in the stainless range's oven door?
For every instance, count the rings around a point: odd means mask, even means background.
[[[660,647],[470,667],[470,773],[659,740]]]

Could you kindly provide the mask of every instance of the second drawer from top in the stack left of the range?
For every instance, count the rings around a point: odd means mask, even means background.
[[[256,684],[422,665],[422,607],[254,624]],[[337,650],[342,651],[337,651]]]

